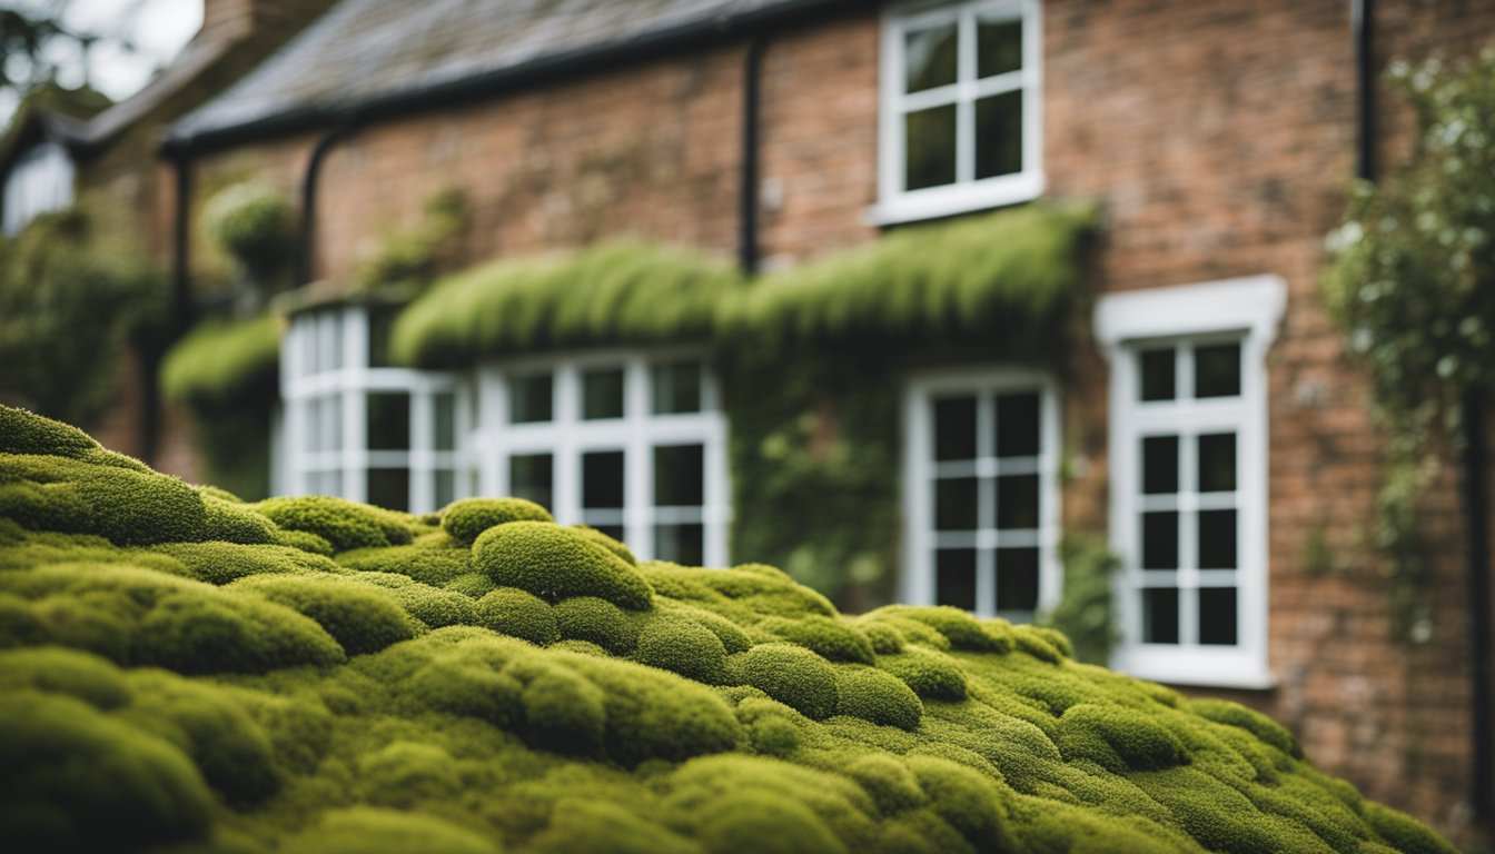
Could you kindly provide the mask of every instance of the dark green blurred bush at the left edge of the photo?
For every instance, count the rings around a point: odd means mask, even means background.
[[[91,422],[115,392],[120,350],[164,316],[166,283],[94,211],[42,214],[0,236],[0,387]]]

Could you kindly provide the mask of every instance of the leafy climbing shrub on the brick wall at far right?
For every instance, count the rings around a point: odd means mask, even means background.
[[[1325,302],[1371,375],[1390,428],[1374,546],[1392,574],[1398,636],[1431,630],[1417,534],[1425,489],[1468,395],[1495,389],[1495,52],[1444,66],[1395,63],[1419,123],[1413,159],[1353,187],[1328,239]]]

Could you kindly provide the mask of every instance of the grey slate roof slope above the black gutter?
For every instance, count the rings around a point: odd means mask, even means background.
[[[342,0],[260,67],[172,126],[176,141],[335,114],[565,55],[721,28],[807,0]]]

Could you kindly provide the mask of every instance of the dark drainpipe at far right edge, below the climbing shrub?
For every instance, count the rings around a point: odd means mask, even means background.
[[[1464,393],[1464,534],[1470,597],[1470,645],[1474,704],[1474,781],[1471,797],[1480,823],[1495,815],[1491,772],[1491,529],[1489,529],[1489,431],[1485,426],[1485,390]]]

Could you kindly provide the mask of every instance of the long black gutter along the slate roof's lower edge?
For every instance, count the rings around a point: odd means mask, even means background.
[[[658,58],[665,51],[700,49],[710,42],[755,36],[774,27],[824,21],[825,15],[831,12],[866,10],[867,7],[866,0],[786,0],[736,15],[718,15],[655,30],[625,42],[562,51],[516,66],[375,96],[368,100],[293,108],[241,124],[196,133],[190,130],[170,132],[161,148],[167,154],[187,145],[196,151],[229,148],[256,139],[338,126],[354,111],[366,121],[377,121],[395,115],[441,109],[454,103],[490,99],[526,85],[556,82],[564,76],[595,73],[629,61]]]

